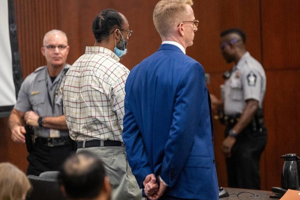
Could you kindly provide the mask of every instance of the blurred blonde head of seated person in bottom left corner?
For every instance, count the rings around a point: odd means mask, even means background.
[[[31,185],[26,175],[11,163],[0,163],[0,199],[23,200]]]

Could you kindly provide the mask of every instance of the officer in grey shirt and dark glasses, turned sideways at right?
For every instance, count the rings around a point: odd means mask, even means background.
[[[211,95],[212,106],[226,124],[222,152],[226,156],[229,187],[260,189],[259,162],[267,143],[262,104],[266,75],[262,65],[245,48],[239,29],[221,33],[220,48],[227,63],[234,62],[222,85],[222,100]]]

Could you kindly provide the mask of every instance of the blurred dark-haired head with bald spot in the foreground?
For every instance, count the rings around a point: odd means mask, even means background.
[[[68,199],[110,199],[111,187],[103,163],[91,152],[83,151],[68,158],[58,180]]]

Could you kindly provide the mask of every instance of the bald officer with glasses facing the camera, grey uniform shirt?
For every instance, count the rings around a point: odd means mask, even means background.
[[[38,176],[44,171],[58,170],[71,152],[72,141],[59,91],[70,67],[66,64],[69,48],[64,32],[52,30],[45,34],[41,51],[47,65],[25,78],[9,117],[12,140],[27,143],[27,174]]]

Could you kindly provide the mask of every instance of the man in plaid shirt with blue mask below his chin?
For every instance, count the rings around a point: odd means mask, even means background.
[[[122,138],[125,82],[119,63],[132,31],[126,17],[106,9],[93,21],[96,42],[72,65],[62,84],[63,111],[78,150],[96,153],[113,187],[112,199],[141,199]]]

